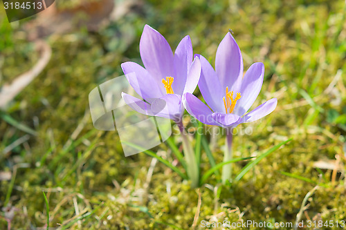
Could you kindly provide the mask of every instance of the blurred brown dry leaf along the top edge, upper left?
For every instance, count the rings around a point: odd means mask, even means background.
[[[29,40],[35,40],[49,35],[64,35],[85,26],[89,31],[98,31],[109,21],[123,17],[133,6],[140,5],[140,0],[115,1],[100,0],[92,2],[81,1],[71,9],[60,10],[57,3],[37,15],[24,26]]]

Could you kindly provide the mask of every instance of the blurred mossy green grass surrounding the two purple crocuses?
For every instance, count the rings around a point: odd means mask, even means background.
[[[81,2],[60,1],[57,8]],[[38,55],[27,39],[33,30],[24,27],[33,18],[10,24],[0,8],[3,85],[29,70]],[[230,28],[242,50],[244,70],[255,61],[264,62],[264,86],[254,106],[271,97],[277,97],[278,106],[261,122],[242,125],[243,131],[249,127],[253,133],[235,135],[235,156],[257,155],[293,137],[233,186],[221,187],[212,176],[210,185],[200,189],[197,223],[294,222],[304,196],[316,184],[302,220],[346,220],[345,12],[341,0],[150,0],[136,2],[125,16],[96,31],[74,26],[44,37],[53,50],[51,61],[0,113],[0,172],[12,173],[11,180],[0,181],[0,206],[18,209],[12,229],[45,227],[42,191],[54,228],[192,226],[198,191],[159,162],[149,180],[155,160],[144,153],[125,157],[116,132],[95,130],[88,111],[87,98],[95,86],[122,75],[122,62],[140,63],[138,44],[145,23],[160,31],[173,49],[190,35],[194,52],[211,63]],[[193,128],[188,120],[185,124]],[[24,135],[30,139],[3,153]],[[173,140],[181,148],[179,135]],[[221,162],[224,138],[215,140],[212,154]],[[174,161],[166,144],[153,151]],[[202,171],[210,169],[204,150],[201,161]],[[314,162],[325,162],[331,169],[319,169]],[[236,163],[235,173],[245,164]],[[0,229],[6,227],[0,218]]]

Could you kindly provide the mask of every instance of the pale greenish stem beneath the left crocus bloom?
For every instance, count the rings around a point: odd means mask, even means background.
[[[199,167],[197,165],[196,155],[194,155],[194,150],[190,141],[188,140],[188,133],[185,131],[183,122],[176,122],[176,125],[179,127],[181,137],[183,139],[183,151],[187,164],[186,171],[191,180],[192,188],[197,188],[199,186]]]

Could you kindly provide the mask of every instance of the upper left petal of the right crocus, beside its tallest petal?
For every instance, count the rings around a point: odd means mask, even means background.
[[[202,55],[195,56],[199,57],[201,61],[202,71],[198,86],[204,100],[213,111],[226,113],[224,101],[222,99],[222,97],[224,97],[226,88],[221,88],[217,74],[207,59]]]

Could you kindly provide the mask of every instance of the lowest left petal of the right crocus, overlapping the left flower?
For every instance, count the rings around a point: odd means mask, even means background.
[[[190,115],[198,119],[203,124],[210,124],[220,126],[219,123],[212,119],[212,111],[206,104],[201,102],[200,99],[192,95],[191,93],[185,93],[183,95],[183,105]]]

